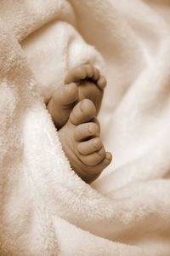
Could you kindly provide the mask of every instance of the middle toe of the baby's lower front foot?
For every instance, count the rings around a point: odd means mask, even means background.
[[[103,147],[101,139],[94,137],[87,142],[78,143],[77,150],[80,154],[92,154]]]

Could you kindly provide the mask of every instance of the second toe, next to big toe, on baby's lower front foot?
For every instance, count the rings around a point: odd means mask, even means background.
[[[99,137],[99,124],[89,122],[81,125],[77,125],[75,129],[75,139],[77,142],[82,142],[88,137]]]

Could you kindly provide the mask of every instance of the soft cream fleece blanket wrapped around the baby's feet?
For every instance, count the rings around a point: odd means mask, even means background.
[[[170,255],[169,2],[0,3],[0,255]],[[114,155],[91,185],[45,106],[84,62],[105,70]]]

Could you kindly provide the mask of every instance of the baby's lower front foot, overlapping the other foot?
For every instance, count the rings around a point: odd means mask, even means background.
[[[91,183],[111,163],[111,153],[99,137],[99,124],[94,117],[94,103],[88,99],[78,102],[67,123],[59,130],[59,139],[72,169],[85,182]]]

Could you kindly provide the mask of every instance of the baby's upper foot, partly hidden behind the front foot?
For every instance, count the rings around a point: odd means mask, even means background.
[[[82,99],[89,99],[99,112],[106,80],[99,70],[91,65],[71,69],[65,77],[65,86],[56,88],[47,108],[59,130],[69,118],[72,108]]]

